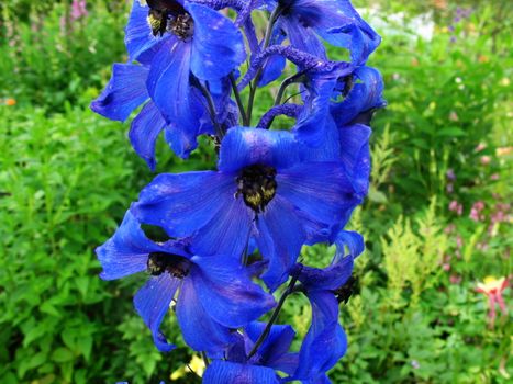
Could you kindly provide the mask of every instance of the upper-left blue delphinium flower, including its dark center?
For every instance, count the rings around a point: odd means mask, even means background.
[[[223,125],[216,120],[233,103],[222,91],[224,78],[245,59],[242,34],[228,19],[201,4],[166,3],[176,10],[154,10],[134,0],[125,43],[129,59],[143,66],[114,65],[111,81],[91,104],[105,117],[125,121],[150,98],[134,120],[131,142],[152,169],[155,140],[163,129],[174,151],[187,157],[197,147],[198,135],[214,133],[212,120]],[[154,36],[156,15],[161,27]],[[205,109],[201,87],[213,93],[215,116]]]

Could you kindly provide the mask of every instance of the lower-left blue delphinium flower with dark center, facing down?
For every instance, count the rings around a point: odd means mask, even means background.
[[[134,297],[134,305],[160,351],[175,348],[159,330],[171,302],[176,302],[186,342],[213,357],[222,355],[236,341],[231,329],[246,326],[275,305],[272,296],[252,283],[248,272],[236,260],[193,255],[185,242],[154,242],[130,211],[97,253],[103,268],[100,276],[104,280],[149,273]]]

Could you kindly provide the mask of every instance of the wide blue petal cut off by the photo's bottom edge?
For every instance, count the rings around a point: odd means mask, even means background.
[[[279,384],[272,369],[213,361],[203,374],[203,384]]]

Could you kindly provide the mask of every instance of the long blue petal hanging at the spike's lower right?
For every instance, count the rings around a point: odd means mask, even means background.
[[[347,339],[338,325],[338,303],[331,292],[308,293],[312,304],[312,324],[300,351],[294,379],[322,377],[345,354]]]

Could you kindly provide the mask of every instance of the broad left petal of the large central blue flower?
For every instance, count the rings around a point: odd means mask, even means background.
[[[224,195],[235,191],[233,177],[221,172],[163,173],[143,189],[131,210],[142,223],[160,226],[171,237],[189,237],[215,217],[224,208]]]

